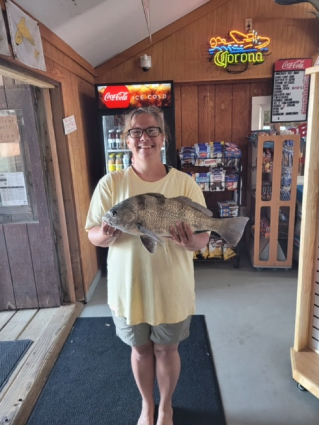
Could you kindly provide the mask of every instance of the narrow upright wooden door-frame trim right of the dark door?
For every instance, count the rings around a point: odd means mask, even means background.
[[[67,287],[63,285],[63,288],[68,293],[64,293],[67,298],[64,301],[70,301],[74,303],[76,301],[75,298],[75,290],[74,290],[74,277],[72,271],[72,262],[70,255],[70,245],[69,245],[69,236],[68,236],[68,228],[66,221],[66,211],[63,202],[63,193],[62,193],[62,184],[61,184],[61,175],[59,169],[58,155],[56,149],[56,139],[53,127],[53,114],[51,108],[51,100],[49,90],[43,90],[44,97],[44,105],[45,105],[45,113],[47,116],[47,126],[48,126],[48,139],[50,143],[51,156],[52,156],[52,164],[54,170],[54,182],[55,182],[55,191],[57,197],[58,211],[59,211],[59,224],[61,227],[62,233],[62,245],[63,245],[63,253],[64,260],[67,271]]]

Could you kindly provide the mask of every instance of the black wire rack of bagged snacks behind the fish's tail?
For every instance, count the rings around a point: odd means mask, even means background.
[[[208,147],[206,151],[203,145],[210,145],[211,150]],[[182,152],[185,152],[185,149],[190,154],[187,157],[186,153],[184,156],[186,160],[183,160]],[[199,152],[200,149],[201,152]],[[239,215],[241,151],[237,145],[233,143],[220,145],[219,142],[195,144],[192,148],[182,147],[178,158],[180,159],[178,168],[192,176],[199,184],[207,208],[213,212],[214,217]],[[239,250],[238,247],[229,246],[218,235],[212,233],[207,247],[194,253],[194,261],[224,261],[239,268]]]

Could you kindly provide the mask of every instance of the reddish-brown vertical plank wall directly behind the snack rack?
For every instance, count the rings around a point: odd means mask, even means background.
[[[250,131],[251,97],[271,94],[271,79],[222,84],[177,84],[175,87],[176,146],[225,141],[242,151],[242,204],[246,205],[247,135]],[[216,193],[215,197],[218,196]]]

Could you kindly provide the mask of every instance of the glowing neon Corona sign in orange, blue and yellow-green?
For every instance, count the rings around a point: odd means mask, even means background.
[[[235,29],[229,37],[212,37],[209,41],[209,61],[214,60],[217,67],[226,68],[229,64],[262,63],[268,52],[269,37],[261,37],[256,31],[244,32]]]

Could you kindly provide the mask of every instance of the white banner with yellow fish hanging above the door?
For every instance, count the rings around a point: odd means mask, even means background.
[[[38,22],[10,0],[6,4],[14,57],[28,67],[46,71]]]

